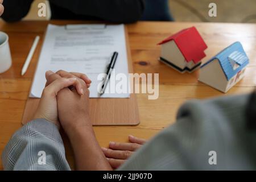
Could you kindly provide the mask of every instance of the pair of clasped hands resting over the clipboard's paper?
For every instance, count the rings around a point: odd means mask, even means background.
[[[89,86],[92,81],[82,73],[46,72],[43,90],[34,119],[44,118],[69,134],[76,127],[92,126],[89,119]]]

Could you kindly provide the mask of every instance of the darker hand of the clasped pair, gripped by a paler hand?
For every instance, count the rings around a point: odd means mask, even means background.
[[[63,89],[57,94],[57,111],[60,124],[68,135],[77,127],[90,126],[89,119],[89,78],[82,73],[68,73],[58,71],[47,79],[47,84],[56,80],[58,77],[75,77],[80,82],[76,88]],[[79,95],[78,93],[81,93]]]

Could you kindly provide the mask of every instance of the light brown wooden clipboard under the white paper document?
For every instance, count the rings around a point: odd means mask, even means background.
[[[125,26],[125,38],[129,73],[133,73],[130,46],[127,27]],[[40,98],[30,98],[23,112],[22,124],[34,119],[34,113],[38,107]],[[94,126],[97,125],[138,125],[139,111],[135,93],[130,98],[90,98],[89,116]]]

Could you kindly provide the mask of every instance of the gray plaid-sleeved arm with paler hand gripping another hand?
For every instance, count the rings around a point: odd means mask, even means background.
[[[46,73],[46,77],[53,72]],[[80,94],[84,78],[58,78],[43,90],[33,121],[24,125],[13,135],[3,155],[6,170],[69,170],[65,149],[58,127],[57,93],[68,86],[75,86]],[[89,83],[89,82],[88,82]]]

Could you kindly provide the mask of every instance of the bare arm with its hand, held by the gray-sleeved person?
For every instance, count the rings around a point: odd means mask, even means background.
[[[61,77],[87,78],[81,73],[58,71],[47,77],[47,83]],[[88,79],[88,78],[87,78]],[[88,80],[89,81],[89,80]],[[85,82],[81,84],[83,93],[77,94],[75,89],[63,89],[57,94],[57,105],[60,124],[71,142],[77,170],[111,170],[108,160],[94,135],[89,119],[89,90]],[[90,81],[88,82],[88,84]]]

